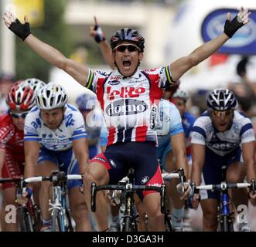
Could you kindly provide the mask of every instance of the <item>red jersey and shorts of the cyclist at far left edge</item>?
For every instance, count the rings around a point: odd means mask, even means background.
[[[24,131],[15,127],[9,113],[0,117],[0,149],[5,150],[2,178],[16,178],[22,175],[25,162]],[[14,184],[3,184],[4,189],[12,186]]]

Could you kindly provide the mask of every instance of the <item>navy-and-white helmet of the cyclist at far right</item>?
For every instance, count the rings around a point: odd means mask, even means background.
[[[211,110],[234,110],[237,107],[237,100],[230,90],[217,89],[208,95],[207,106]]]

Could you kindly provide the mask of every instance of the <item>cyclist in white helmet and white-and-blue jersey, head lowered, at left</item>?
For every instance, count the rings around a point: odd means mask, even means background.
[[[84,174],[88,161],[87,134],[80,111],[67,103],[67,93],[55,83],[48,83],[39,90],[36,105],[25,121],[25,177],[49,176],[57,169],[66,174]],[[90,231],[87,205],[79,190],[81,184],[80,181],[68,181],[70,210],[77,231]],[[30,194],[31,189],[27,188]],[[42,231],[47,231],[51,225],[48,181],[41,184],[39,201]]]

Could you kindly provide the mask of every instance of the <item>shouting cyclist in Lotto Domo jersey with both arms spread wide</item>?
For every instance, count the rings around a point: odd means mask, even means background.
[[[230,13],[227,13],[224,32],[220,36],[198,47],[188,56],[159,69],[138,69],[143,59],[145,39],[136,30],[121,29],[111,37],[111,56],[118,69],[106,74],[67,59],[58,50],[37,39],[30,32],[27,17],[26,23],[22,24],[11,12],[5,13],[5,25],[15,35],[43,59],[63,69],[81,85],[93,90],[101,103],[109,130],[108,148],[87,167],[84,181],[88,204],[91,182],[114,183],[127,173],[131,164],[135,165],[135,183],[162,184],[155,153],[156,133],[153,121],[155,100],[160,100],[161,88],[171,86],[186,71],[216,52],[238,29],[249,22],[250,14],[247,9],[240,8],[237,16],[231,20]],[[146,157],[145,154],[150,155]],[[134,160],[129,161],[131,158]],[[140,197],[143,198],[150,229],[163,231],[165,227],[160,211],[159,193],[143,193]],[[107,205],[104,195],[99,194],[94,216],[100,231],[108,229]]]

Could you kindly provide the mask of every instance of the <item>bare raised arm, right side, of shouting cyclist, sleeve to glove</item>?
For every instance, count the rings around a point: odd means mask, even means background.
[[[203,60],[207,59],[214,52],[217,51],[221,46],[224,45],[227,40],[230,39],[225,33],[222,33],[217,38],[206,42],[202,46],[193,50],[188,56],[184,56],[177,59],[175,62],[169,65],[170,71],[172,72],[172,80],[179,80],[184,73],[186,73],[193,66],[198,65]]]

